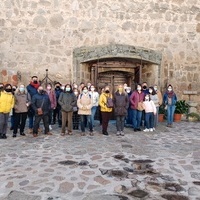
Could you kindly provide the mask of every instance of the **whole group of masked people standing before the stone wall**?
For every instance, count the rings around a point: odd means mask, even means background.
[[[62,85],[48,83],[44,88],[37,76],[31,78],[30,84],[0,83],[0,139],[6,139],[8,119],[11,115],[13,137],[25,136],[26,120],[29,118],[29,132],[38,136],[41,120],[44,133],[52,135],[52,124],[58,123],[61,135],[71,135],[74,129],[81,130],[81,136],[94,135],[94,119],[99,109],[102,134],[108,135],[108,124],[114,112],[116,118],[116,135],[124,136],[127,124],[133,130],[151,132],[158,124],[158,110],[163,103],[167,109],[167,126],[173,123],[173,112],[177,101],[172,85],[168,85],[164,95],[157,85],[148,87],[147,83],[137,84],[135,90],[127,84],[120,84],[116,91],[106,85],[100,92],[90,82],[86,85],[76,83]],[[80,126],[79,126],[80,125]]]

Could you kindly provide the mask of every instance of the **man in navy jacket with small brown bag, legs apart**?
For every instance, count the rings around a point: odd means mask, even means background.
[[[45,128],[44,133],[52,135],[49,132],[49,110],[51,109],[51,102],[42,86],[38,87],[38,93],[33,96],[31,106],[35,112],[33,137],[38,136],[38,128],[41,120],[43,120]]]

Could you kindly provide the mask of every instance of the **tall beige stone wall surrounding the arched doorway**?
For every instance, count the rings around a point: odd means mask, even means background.
[[[75,48],[127,44],[162,52],[162,87],[173,84],[179,98],[200,93],[199,0],[1,0],[0,8],[0,70],[21,81],[45,69],[73,81]]]

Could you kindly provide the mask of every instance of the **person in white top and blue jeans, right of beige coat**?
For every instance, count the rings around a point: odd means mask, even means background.
[[[92,98],[92,109],[91,109],[91,123],[92,123],[92,129],[94,129],[94,117],[97,111],[97,107],[99,105],[99,93],[95,90],[94,85],[91,85],[90,92]]]

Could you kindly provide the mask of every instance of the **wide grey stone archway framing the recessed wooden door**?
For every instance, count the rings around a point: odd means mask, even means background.
[[[101,75],[121,72],[135,82],[148,81],[160,85],[161,52],[130,45],[110,44],[80,47],[73,51],[73,81],[92,80],[99,84]]]

